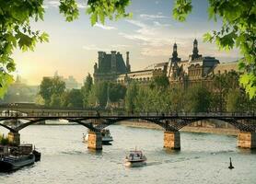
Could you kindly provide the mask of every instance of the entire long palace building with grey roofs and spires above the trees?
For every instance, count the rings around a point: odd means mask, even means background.
[[[110,54],[99,52],[98,63],[94,65],[94,81],[111,81],[128,84],[131,81],[147,83],[155,76],[167,75],[170,85],[184,87],[202,84],[211,87],[213,76],[238,71],[237,62],[220,63],[215,57],[199,54],[198,41],[193,40],[192,54],[187,60],[178,57],[178,46],[173,45],[173,52],[168,62],[157,63],[151,69],[131,72],[129,52],[126,52],[126,62],[120,52]]]

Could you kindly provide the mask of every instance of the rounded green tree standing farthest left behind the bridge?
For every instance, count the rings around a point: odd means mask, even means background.
[[[43,77],[40,85],[39,94],[44,99],[45,105],[50,105],[52,101],[52,95],[56,94],[58,97],[61,97],[65,90],[65,83],[61,80],[60,77],[54,76]],[[54,97],[55,98],[55,97]]]

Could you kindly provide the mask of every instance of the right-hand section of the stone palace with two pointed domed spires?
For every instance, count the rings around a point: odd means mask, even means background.
[[[199,54],[198,42],[193,41],[192,54],[188,60],[180,60],[178,57],[177,44],[174,43],[172,57],[169,59],[168,73],[170,85],[184,87],[204,85],[211,88],[213,76],[228,71],[238,71],[237,62],[219,63],[215,57]]]

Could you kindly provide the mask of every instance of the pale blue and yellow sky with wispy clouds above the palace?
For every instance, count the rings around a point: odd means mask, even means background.
[[[192,14],[186,22],[178,22],[171,16],[173,0],[132,0],[127,12],[132,18],[106,21],[91,26],[86,15],[86,3],[79,0],[80,16],[66,22],[59,14],[58,0],[44,0],[44,21],[31,21],[33,29],[50,35],[50,41],[39,43],[34,52],[14,52],[17,71],[29,85],[39,85],[43,76],[74,75],[82,83],[93,65],[98,62],[98,52],[130,52],[132,71],[143,70],[154,63],[168,62],[174,42],[178,44],[181,60],[192,53],[192,41],[199,42],[203,56],[215,56],[220,62],[237,60],[238,50],[220,52],[214,43],[203,41],[204,33],[220,29],[221,22],[208,20],[207,1],[193,0]]]

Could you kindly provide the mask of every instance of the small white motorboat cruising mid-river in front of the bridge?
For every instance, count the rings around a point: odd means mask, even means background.
[[[126,155],[124,160],[124,166],[126,167],[143,167],[146,165],[146,157],[142,151],[130,151],[129,155]]]

